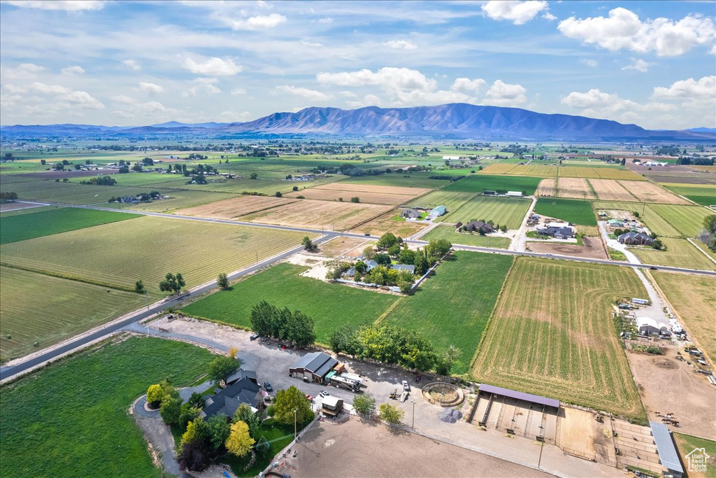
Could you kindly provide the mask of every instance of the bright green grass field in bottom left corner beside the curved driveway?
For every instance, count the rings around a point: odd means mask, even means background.
[[[2,388],[5,477],[160,477],[127,408],[152,383],[183,386],[211,353],[173,340],[128,338],[50,365]]]

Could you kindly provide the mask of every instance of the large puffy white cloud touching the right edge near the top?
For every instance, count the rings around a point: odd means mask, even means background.
[[[716,37],[712,19],[687,15],[679,21],[659,17],[639,20],[633,11],[618,7],[609,17],[569,19],[557,27],[566,37],[581,39],[585,44],[597,44],[614,52],[629,49],[633,52],[656,52],[659,57],[683,54],[697,45],[711,44]]]

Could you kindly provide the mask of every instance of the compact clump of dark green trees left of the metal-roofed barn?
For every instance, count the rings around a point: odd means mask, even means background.
[[[296,347],[306,347],[316,340],[311,317],[300,310],[279,309],[265,300],[251,310],[251,329],[261,335],[288,340]]]

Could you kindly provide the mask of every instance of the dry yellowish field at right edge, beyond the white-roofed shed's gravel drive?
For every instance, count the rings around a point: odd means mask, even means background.
[[[701,350],[716,361],[716,277],[651,271],[657,285],[692,333]]]

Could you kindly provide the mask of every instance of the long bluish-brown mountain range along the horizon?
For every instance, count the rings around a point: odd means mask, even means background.
[[[713,128],[646,130],[612,120],[545,114],[513,107],[451,103],[405,108],[363,107],[342,110],[306,107],[296,113],[273,113],[246,123],[178,123],[148,126],[12,125],[4,134],[40,135],[321,135],[404,136],[485,140],[570,141],[715,141]]]

